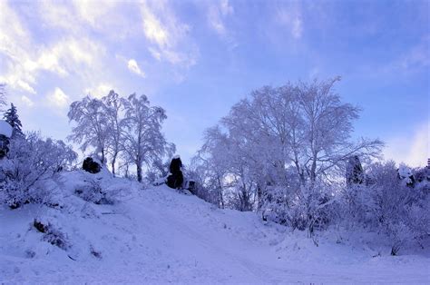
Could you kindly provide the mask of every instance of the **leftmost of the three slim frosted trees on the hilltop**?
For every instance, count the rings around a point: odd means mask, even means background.
[[[67,139],[81,144],[83,152],[92,146],[95,152],[100,154],[101,161],[104,163],[110,133],[109,120],[103,102],[86,96],[81,101],[73,102],[70,105],[67,116],[70,122],[76,124]]]

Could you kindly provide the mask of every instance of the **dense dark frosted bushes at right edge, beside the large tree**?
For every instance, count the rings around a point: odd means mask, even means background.
[[[407,175],[399,175],[395,162],[372,163],[366,173],[366,185],[349,185],[342,192],[345,221],[385,233],[393,255],[406,241],[421,241],[430,229],[429,192],[411,187],[405,182],[411,173],[401,172]]]

